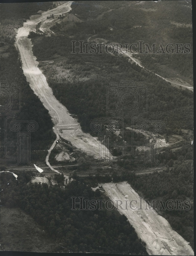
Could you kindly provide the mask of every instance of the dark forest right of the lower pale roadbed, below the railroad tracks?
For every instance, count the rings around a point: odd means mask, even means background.
[[[166,168],[163,172],[148,175],[137,175],[134,178],[127,174],[124,180],[132,185],[149,202],[156,199],[163,203],[171,200],[190,200],[190,210],[161,210],[158,213],[168,220],[171,227],[176,230],[185,240],[193,245],[193,168],[192,160],[183,161],[179,156],[172,168]],[[118,178],[116,180],[119,181]]]

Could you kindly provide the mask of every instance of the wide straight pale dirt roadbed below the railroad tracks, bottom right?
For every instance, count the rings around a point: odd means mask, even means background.
[[[132,189],[127,182],[121,183],[105,183],[100,184],[106,191],[107,196],[114,202],[121,200],[123,203],[118,209],[121,214],[124,214],[133,228],[136,230],[138,237],[146,243],[146,250],[149,255],[194,255],[192,248],[177,232],[175,232],[168,221],[162,216],[158,215],[152,208],[149,209],[146,202],[139,198],[139,195]],[[125,200],[128,200],[126,207]],[[142,202],[142,209],[132,210],[129,207],[131,200],[132,208],[140,208],[140,200]],[[120,203],[118,203],[119,205]]]

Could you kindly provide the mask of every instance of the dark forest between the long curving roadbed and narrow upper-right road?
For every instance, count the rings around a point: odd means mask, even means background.
[[[142,81],[148,87],[148,112],[144,113],[144,120],[161,120],[173,132],[179,128],[192,130],[193,96],[187,89],[171,86],[124,57],[98,53],[73,55],[67,36],[44,37],[32,32],[30,37],[40,63],[54,60],[40,67],[55,97],[70,113],[78,115],[85,132],[91,131],[92,121],[111,118],[106,112],[107,87],[111,82],[123,80],[133,80],[136,85]],[[111,104],[115,109],[115,102]],[[126,120],[125,124],[129,126],[130,121]]]

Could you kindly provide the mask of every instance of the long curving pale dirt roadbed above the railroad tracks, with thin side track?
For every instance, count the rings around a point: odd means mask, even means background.
[[[29,82],[34,93],[38,95],[44,107],[49,111],[54,123],[53,130],[57,137],[50,150],[48,150],[46,164],[57,173],[59,173],[58,170],[55,170],[50,165],[48,159],[56,144],[56,141],[59,140],[59,134],[66,140],[70,141],[74,147],[93,155],[94,158],[99,158],[100,143],[90,134],[82,132],[80,124],[77,122],[77,120],[72,118],[66,107],[54,97],[52,89],[48,86],[45,76],[38,68],[39,63],[36,61],[36,57],[33,56],[31,40],[27,37],[30,31],[36,31],[36,25],[39,22],[41,22],[41,24],[45,23],[47,16],[53,14],[57,21],[57,17],[60,14],[69,12],[71,10],[71,3],[72,1],[69,1],[52,10],[43,12],[41,15],[31,16],[30,20],[27,20],[27,22],[23,24],[23,27],[18,29],[15,43],[15,46],[20,53],[24,75],[26,76],[27,81]],[[60,130],[62,130],[62,132]],[[106,152],[108,151],[106,150]],[[110,157],[110,155],[107,155],[106,157]]]

